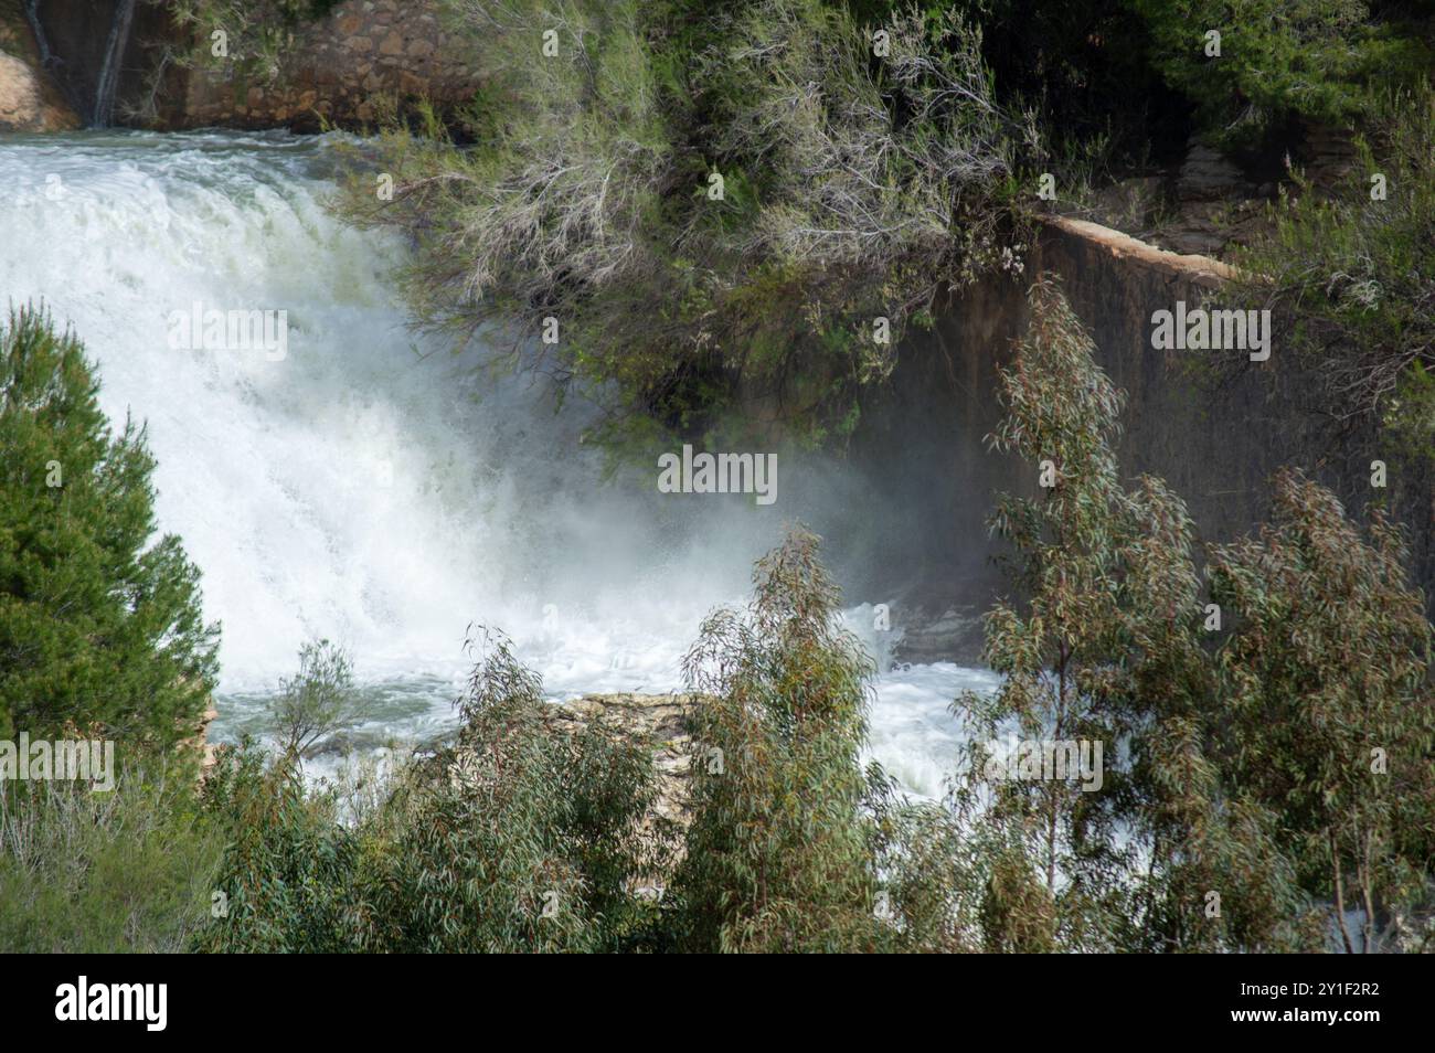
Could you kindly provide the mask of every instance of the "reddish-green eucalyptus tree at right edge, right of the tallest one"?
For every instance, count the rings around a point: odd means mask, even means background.
[[[1213,598],[1240,618],[1218,666],[1228,779],[1280,816],[1347,951],[1435,945],[1435,636],[1406,561],[1379,509],[1366,539],[1289,471],[1271,522],[1211,558]]]

